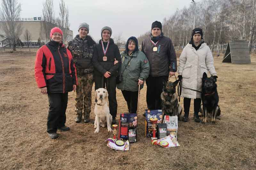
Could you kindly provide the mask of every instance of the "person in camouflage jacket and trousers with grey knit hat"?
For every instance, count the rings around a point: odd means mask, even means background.
[[[68,49],[71,51],[77,71],[76,86],[76,123],[82,120],[82,111],[84,109],[84,123],[90,121],[90,112],[92,105],[92,85],[94,82],[92,64],[92,55],[95,41],[89,33],[89,25],[82,23],[78,28],[79,34],[68,42]]]

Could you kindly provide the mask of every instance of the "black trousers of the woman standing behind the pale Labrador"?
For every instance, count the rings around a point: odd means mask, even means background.
[[[116,118],[117,112],[117,101],[116,101],[116,76],[110,76],[105,78],[104,76],[95,76],[95,90],[99,88],[107,88],[108,90],[108,102],[109,102],[109,112],[113,119]]]

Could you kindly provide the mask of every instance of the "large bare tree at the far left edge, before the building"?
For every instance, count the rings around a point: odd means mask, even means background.
[[[0,20],[5,21],[2,23],[2,30],[12,45],[12,50],[16,51],[16,40],[22,32],[22,23],[18,21],[21,5],[18,4],[18,0],[2,0],[1,6]]]

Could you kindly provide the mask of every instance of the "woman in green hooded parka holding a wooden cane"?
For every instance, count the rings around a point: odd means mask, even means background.
[[[129,113],[136,113],[139,84],[142,89],[149,74],[148,59],[143,52],[139,51],[136,37],[130,37],[127,40],[125,51],[121,54],[121,61],[119,74],[123,74],[123,80],[117,84],[117,89],[122,91]]]

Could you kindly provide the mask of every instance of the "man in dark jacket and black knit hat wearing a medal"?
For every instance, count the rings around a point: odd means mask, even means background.
[[[142,41],[141,51],[147,56],[150,65],[149,77],[146,79],[148,109],[161,110],[163,82],[177,71],[172,40],[164,36],[161,22],[152,23],[151,35]]]

